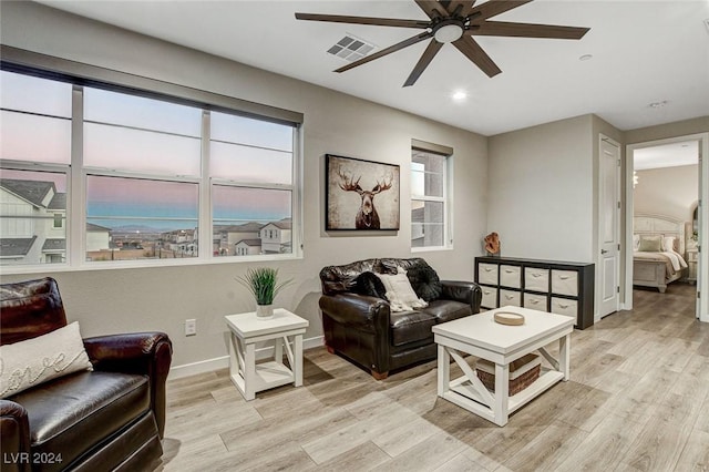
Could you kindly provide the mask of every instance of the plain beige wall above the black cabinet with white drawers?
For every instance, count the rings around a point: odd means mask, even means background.
[[[490,137],[487,232],[502,256],[593,263],[592,115]]]

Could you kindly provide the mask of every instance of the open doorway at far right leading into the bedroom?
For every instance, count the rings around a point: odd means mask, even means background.
[[[701,230],[706,222],[702,222],[703,212],[699,202],[707,192],[701,185],[702,181],[708,182],[707,170],[701,166],[701,155],[707,153],[708,146],[707,133],[628,145],[625,308],[633,307],[635,281],[640,286],[655,287],[647,288],[650,290],[667,289],[672,295],[693,297],[697,305],[696,317],[709,321],[707,301],[703,300],[702,306],[699,298],[707,281],[706,276],[702,278],[707,267],[701,264],[699,246],[702,234],[708,233]],[[645,244],[644,249],[649,249],[650,253],[637,253],[640,238],[643,243],[659,240],[658,252],[669,252],[672,256],[671,264],[670,260],[656,263],[657,281],[651,275],[653,263],[644,260],[656,256],[651,254],[655,249]],[[671,253],[679,255],[681,260],[677,261]],[[634,258],[634,255],[637,257]],[[667,274],[664,267],[660,270],[660,265],[667,265]],[[672,274],[670,265],[680,271]]]

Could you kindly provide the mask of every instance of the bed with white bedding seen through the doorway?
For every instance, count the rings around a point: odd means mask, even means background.
[[[687,269],[685,223],[660,215],[636,215],[633,220],[633,285],[664,294]]]

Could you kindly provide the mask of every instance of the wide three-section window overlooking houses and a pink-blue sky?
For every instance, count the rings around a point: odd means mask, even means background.
[[[297,123],[61,79],[0,72],[0,265],[294,253]]]

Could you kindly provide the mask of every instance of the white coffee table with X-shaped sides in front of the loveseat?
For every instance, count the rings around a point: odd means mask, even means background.
[[[494,321],[496,311],[513,311],[525,317],[524,325],[508,326]],[[459,407],[505,425],[510,413],[547,390],[558,381],[568,380],[571,334],[574,318],[520,307],[502,307],[480,315],[443,322],[433,327],[438,343],[438,393]],[[559,359],[551,356],[545,346],[558,340]],[[553,366],[543,367],[540,378],[510,397],[510,363],[538,350]],[[489,391],[462,353],[470,353],[495,363],[495,391]],[[451,358],[463,376],[451,380]]]

